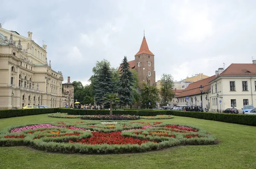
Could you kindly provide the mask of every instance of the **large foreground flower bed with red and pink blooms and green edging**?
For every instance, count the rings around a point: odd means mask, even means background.
[[[202,129],[162,122],[69,122],[18,126],[0,131],[0,146],[32,146],[65,153],[127,153],[177,145],[207,145]]]

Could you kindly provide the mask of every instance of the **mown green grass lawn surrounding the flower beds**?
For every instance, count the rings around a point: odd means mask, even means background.
[[[7,126],[54,121],[80,121],[44,115],[0,119]],[[218,145],[178,146],[160,151],[120,155],[61,154],[29,147],[0,147],[0,169],[256,169],[256,127],[189,117],[161,121],[201,127],[221,141]]]

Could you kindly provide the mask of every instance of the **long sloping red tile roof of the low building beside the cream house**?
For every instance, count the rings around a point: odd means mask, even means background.
[[[183,90],[183,92],[180,93],[180,95],[178,95],[177,97],[184,97],[184,96],[190,96],[190,95],[198,95],[200,94],[200,89],[199,86],[204,86],[203,88],[203,93],[207,92],[207,90],[210,89],[210,81],[212,81],[213,79],[215,79],[215,75],[208,77],[206,79],[203,80],[199,80],[197,82],[194,83],[190,83],[189,86]]]

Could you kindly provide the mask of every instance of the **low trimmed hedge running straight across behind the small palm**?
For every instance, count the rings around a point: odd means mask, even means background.
[[[69,115],[109,115],[109,110],[93,110],[93,109],[58,109],[58,112],[67,113]],[[113,110],[113,115],[137,115],[137,116],[155,116],[166,115],[167,110]]]

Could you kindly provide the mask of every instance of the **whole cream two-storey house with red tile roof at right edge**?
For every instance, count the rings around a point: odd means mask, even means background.
[[[234,107],[242,112],[244,105],[256,107],[256,60],[253,63],[232,63],[227,69],[215,71],[211,85],[212,112]]]

